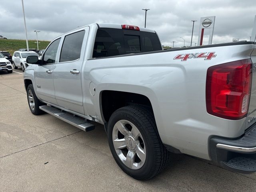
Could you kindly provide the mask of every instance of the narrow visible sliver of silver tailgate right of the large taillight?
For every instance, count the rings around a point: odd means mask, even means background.
[[[249,128],[256,122],[256,45],[254,45],[254,50],[251,54],[252,59],[252,89],[249,110],[246,117],[246,127]]]

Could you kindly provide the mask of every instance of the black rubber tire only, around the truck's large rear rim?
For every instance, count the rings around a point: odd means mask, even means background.
[[[146,147],[146,160],[137,170],[126,166],[118,157],[113,144],[113,129],[116,122],[128,120],[139,130]],[[168,163],[169,152],[163,146],[153,113],[140,106],[126,106],[116,110],[108,122],[108,144],[118,166],[128,175],[138,180],[148,180],[160,173]],[[128,149],[129,150],[129,149]]]

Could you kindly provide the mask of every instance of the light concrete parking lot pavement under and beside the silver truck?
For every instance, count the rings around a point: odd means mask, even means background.
[[[256,174],[171,154],[166,170],[138,181],[118,167],[103,126],[83,132],[50,114],[34,116],[22,70],[0,72],[0,191],[256,191]]]

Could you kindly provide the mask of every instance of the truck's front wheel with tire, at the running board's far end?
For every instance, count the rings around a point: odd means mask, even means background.
[[[34,115],[44,114],[44,111],[40,110],[39,107],[45,104],[38,100],[32,84],[30,84],[27,88],[27,98],[28,98],[28,106],[32,114]]]

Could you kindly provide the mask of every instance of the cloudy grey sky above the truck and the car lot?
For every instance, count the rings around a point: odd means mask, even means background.
[[[0,35],[25,39],[21,0],[0,0]],[[201,17],[216,16],[212,43],[230,42],[232,38],[249,40],[252,34],[255,0],[24,0],[28,39],[56,36],[91,23],[131,24],[156,30],[163,45],[190,45],[198,41]],[[205,32],[207,34],[207,31]],[[207,40],[204,39],[204,44]]]

